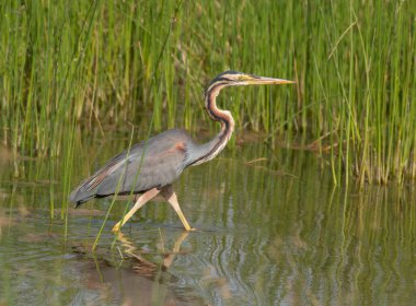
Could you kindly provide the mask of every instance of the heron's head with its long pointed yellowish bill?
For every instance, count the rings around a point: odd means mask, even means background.
[[[223,85],[223,86],[240,86],[240,85],[256,85],[256,84],[292,84],[294,81],[288,81],[282,79],[274,79],[266,76],[258,76],[254,74],[249,74],[244,72],[228,70],[218,74],[210,83],[209,87],[212,85]]]

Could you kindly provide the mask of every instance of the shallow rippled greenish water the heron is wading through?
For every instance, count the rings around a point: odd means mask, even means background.
[[[77,149],[72,186],[126,140],[85,145],[88,154]],[[157,199],[114,236],[126,204],[117,201],[93,254],[111,200],[70,209],[65,237],[60,180],[45,178],[38,161],[5,160],[0,305],[415,303],[412,185],[335,188],[325,160],[313,153],[244,143],[175,184],[196,232],[185,234]],[[60,162],[53,163],[59,173]],[[11,179],[16,169],[26,178]]]

